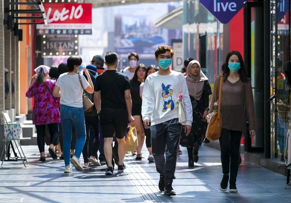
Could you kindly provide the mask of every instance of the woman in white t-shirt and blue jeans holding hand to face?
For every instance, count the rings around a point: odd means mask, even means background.
[[[67,60],[68,73],[63,73],[58,78],[53,91],[53,96],[61,97],[61,122],[63,128],[64,142],[63,154],[65,160],[65,173],[72,173],[70,162],[75,166],[77,171],[82,171],[83,166],[79,160],[86,140],[85,116],[83,109],[83,89],[88,93],[93,93],[93,83],[86,67],[83,67],[82,59],[78,56],[71,56]],[[84,71],[88,77],[79,74]],[[81,80],[79,80],[79,76]],[[77,143],[75,155],[70,159],[70,145],[72,140],[72,125],[76,130]]]

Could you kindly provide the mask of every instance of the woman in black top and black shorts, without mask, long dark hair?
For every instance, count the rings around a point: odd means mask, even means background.
[[[141,148],[143,147],[143,142],[145,141],[145,133],[143,130],[142,120],[141,120],[141,97],[139,96],[139,86],[142,82],[144,82],[145,77],[145,65],[143,63],[139,64],[136,67],[136,70],[134,72],[134,76],[130,80],[131,84],[131,98],[132,98],[132,116],[134,118],[134,126],[136,128],[136,134],[137,134],[137,140],[138,140],[138,146],[136,148],[136,160],[141,160],[142,154],[141,154]]]

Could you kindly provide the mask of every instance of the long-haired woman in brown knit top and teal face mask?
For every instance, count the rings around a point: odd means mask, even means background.
[[[214,82],[210,112],[212,112],[214,103],[218,100],[220,78],[220,75],[217,76]],[[257,131],[251,80],[246,75],[244,61],[238,51],[231,51],[226,56],[221,101],[219,102],[221,102],[222,114],[222,130],[219,143],[223,172],[219,188],[221,191],[226,191],[229,179],[229,192],[237,192],[235,182],[239,165],[239,146],[242,133],[246,134],[245,110],[249,120],[251,137],[255,136]],[[209,116],[210,114],[206,119]]]

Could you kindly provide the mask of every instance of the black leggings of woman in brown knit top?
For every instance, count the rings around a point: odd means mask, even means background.
[[[223,174],[227,175],[230,171],[229,179],[230,184],[236,182],[239,165],[238,158],[241,137],[242,137],[241,131],[228,130],[226,128],[222,128],[221,136],[219,138],[222,172]]]

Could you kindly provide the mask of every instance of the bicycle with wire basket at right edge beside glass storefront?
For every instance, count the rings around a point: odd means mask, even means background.
[[[285,164],[283,164],[283,168],[287,168],[287,185],[285,189],[289,189],[290,187],[290,169],[291,169],[291,131],[289,130],[289,125],[291,124],[290,121],[290,106],[284,105],[282,100],[274,95],[271,98],[269,98],[269,101],[273,99],[278,99],[280,103],[277,105],[278,110],[278,120],[280,123],[280,127],[284,129],[285,131],[285,139],[284,139],[284,160]],[[279,164],[278,168],[281,168],[282,165]]]

